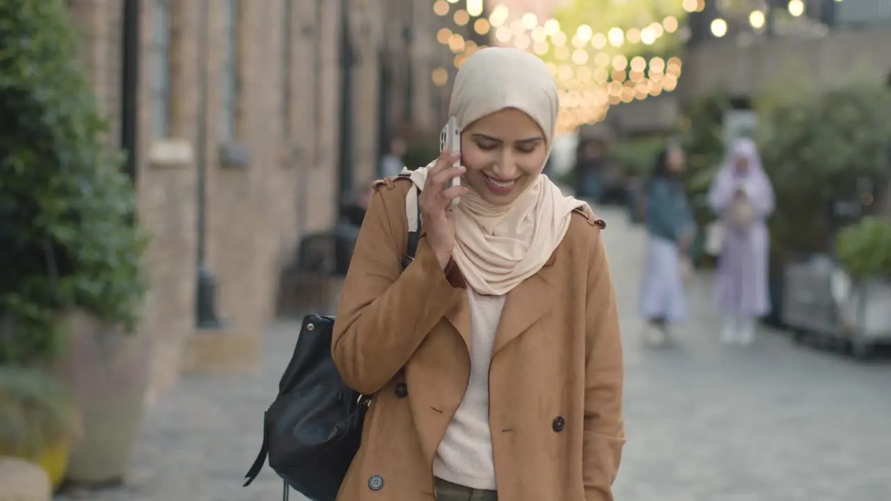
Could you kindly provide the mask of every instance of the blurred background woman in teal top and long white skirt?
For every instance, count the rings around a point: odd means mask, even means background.
[[[681,147],[669,145],[658,154],[646,188],[644,221],[650,240],[640,298],[646,338],[654,344],[665,342],[670,325],[686,316],[682,264],[696,226],[679,179],[684,160]]]

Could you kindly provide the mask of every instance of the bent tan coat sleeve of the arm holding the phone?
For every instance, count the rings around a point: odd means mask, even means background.
[[[462,289],[439,266],[421,236],[412,263],[405,256],[405,201],[396,191],[372,196],[356,240],[331,336],[331,356],[344,382],[365,395],[380,390],[412,357],[430,330],[460,300]],[[388,207],[388,200],[391,206]]]

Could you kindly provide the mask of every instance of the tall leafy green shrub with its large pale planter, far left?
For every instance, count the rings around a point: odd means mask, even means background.
[[[69,480],[127,470],[148,353],[135,191],[107,142],[61,0],[0,3],[0,364],[53,365],[84,433]]]

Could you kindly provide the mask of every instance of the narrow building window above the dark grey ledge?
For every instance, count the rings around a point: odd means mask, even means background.
[[[220,82],[220,140],[235,138],[238,122],[238,10],[239,0],[223,2],[223,72]]]

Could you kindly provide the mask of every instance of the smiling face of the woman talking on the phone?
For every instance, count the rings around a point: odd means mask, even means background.
[[[461,134],[464,183],[493,205],[508,205],[535,181],[547,159],[544,132],[523,111],[506,108]]]

